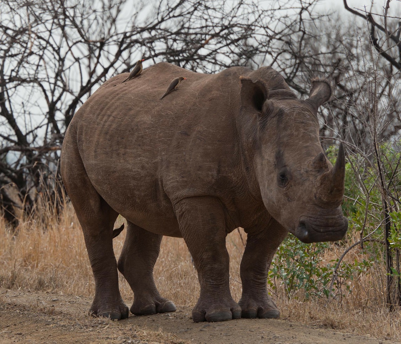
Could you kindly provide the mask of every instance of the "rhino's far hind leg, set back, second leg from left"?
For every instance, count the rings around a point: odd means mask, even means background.
[[[173,302],[160,296],[153,278],[153,267],[159,255],[162,237],[128,221],[127,235],[117,267],[134,292],[131,307],[134,315],[170,313],[176,310]]]

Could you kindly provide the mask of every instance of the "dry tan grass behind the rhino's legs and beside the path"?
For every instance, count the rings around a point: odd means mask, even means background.
[[[122,218],[117,219],[116,226],[123,221]],[[243,231],[241,233],[245,240],[246,234]],[[121,252],[124,239],[125,231],[113,241],[116,257]],[[226,243],[230,254],[231,293],[238,301],[241,296],[239,264],[244,250],[239,232],[233,231],[228,235]],[[322,257],[322,263],[336,259],[342,252],[343,248],[333,245]],[[346,257],[350,261],[359,258],[354,253]],[[0,217],[0,261],[0,286],[3,288],[79,296],[94,294],[93,276],[81,227],[69,204],[65,206],[58,221],[50,215],[41,221],[20,221],[16,234]],[[163,296],[178,306],[194,306],[199,286],[196,270],[183,239],[163,238],[154,275]],[[401,338],[400,312],[389,314],[385,307],[377,304],[377,296],[371,290],[372,287],[377,288],[376,280],[377,276],[373,273],[355,276],[350,286],[352,293],[342,298],[341,302],[337,299],[330,302],[325,299],[312,299],[308,302],[298,301],[301,298],[288,300],[284,290],[280,289],[273,294],[273,298],[283,318],[357,334]],[[120,290],[130,305],[133,294],[122,275]]]

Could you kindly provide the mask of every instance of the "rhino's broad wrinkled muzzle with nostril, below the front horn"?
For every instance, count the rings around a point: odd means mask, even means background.
[[[304,243],[341,240],[348,229],[348,219],[342,214],[327,217],[299,219],[294,235]]]

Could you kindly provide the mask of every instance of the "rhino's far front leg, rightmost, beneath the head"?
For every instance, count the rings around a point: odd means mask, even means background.
[[[288,232],[274,219],[265,228],[253,228],[247,232],[247,244],[241,261],[241,316],[278,318],[280,311],[267,293],[267,273],[277,247]]]

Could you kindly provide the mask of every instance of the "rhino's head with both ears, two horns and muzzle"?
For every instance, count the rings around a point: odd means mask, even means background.
[[[255,185],[270,215],[305,243],[340,240],[345,157],[333,167],[319,141],[317,111],[331,97],[325,80],[314,80],[309,98],[289,89],[269,90],[262,80],[241,77],[241,104],[254,116]]]

